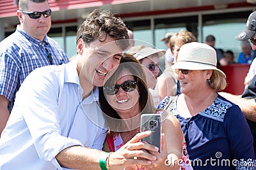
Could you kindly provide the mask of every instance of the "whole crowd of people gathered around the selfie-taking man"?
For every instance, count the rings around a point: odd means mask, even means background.
[[[93,10],[68,60],[47,36],[47,0],[20,0],[17,16],[0,42],[0,169],[256,169],[256,11],[236,36],[237,63],[251,64],[241,96],[222,92],[217,66],[234,53],[213,35],[199,43],[180,30],[161,39],[166,50],[136,45],[122,18]],[[152,113],[159,147],[141,141],[152,134],[141,115]]]

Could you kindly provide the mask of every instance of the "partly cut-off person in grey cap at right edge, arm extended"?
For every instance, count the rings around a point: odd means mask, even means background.
[[[246,29],[238,34],[236,39],[239,41],[247,41],[250,39],[253,50],[256,50],[256,11],[250,14],[246,22]],[[256,60],[254,59],[250,70],[255,68]],[[254,73],[252,80],[250,80],[248,87],[246,87],[241,97],[225,92],[221,92],[220,95],[237,104],[243,111],[252,131],[253,147],[256,155],[256,74]]]

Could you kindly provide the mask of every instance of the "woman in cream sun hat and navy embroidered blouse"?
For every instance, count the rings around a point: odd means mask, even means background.
[[[227,83],[216,64],[211,46],[183,45],[173,65],[182,94],[173,100],[165,97],[160,106],[163,109],[170,102],[168,110],[180,121],[195,170],[236,169],[235,160],[254,158],[252,134],[243,113],[218,94]]]

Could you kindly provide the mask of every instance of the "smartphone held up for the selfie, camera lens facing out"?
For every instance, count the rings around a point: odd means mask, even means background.
[[[159,152],[161,152],[161,115],[159,114],[143,114],[141,115],[140,131],[152,131],[150,136],[141,139],[141,141],[147,141],[147,143],[157,146]]]

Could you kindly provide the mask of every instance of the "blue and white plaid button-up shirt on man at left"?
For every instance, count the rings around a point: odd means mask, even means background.
[[[38,67],[68,62],[67,54],[54,39],[45,36],[43,41],[29,36],[20,25],[16,31],[0,43],[0,95],[9,101],[11,112],[15,94],[31,71]]]

